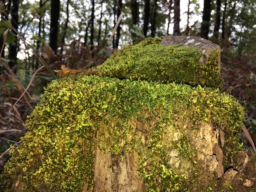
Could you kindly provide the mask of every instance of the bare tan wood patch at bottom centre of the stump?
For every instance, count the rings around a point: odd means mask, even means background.
[[[93,192],[140,192],[146,187],[139,175],[139,156],[135,151],[121,157],[99,148],[95,150]]]

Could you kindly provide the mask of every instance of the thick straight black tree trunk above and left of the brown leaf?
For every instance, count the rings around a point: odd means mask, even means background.
[[[58,20],[60,16],[60,0],[51,1],[50,47],[57,53]]]

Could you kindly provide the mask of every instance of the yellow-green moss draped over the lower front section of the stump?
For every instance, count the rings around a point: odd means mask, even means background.
[[[41,97],[22,145],[12,149],[5,166],[6,174],[19,177],[32,191],[90,186],[95,145],[120,155],[135,150],[148,191],[193,189],[204,174],[191,155],[195,149],[189,132],[203,122],[224,129],[224,153],[240,150],[243,108],[219,90],[75,74],[52,81]],[[138,130],[138,124],[145,130]],[[180,137],[170,142],[174,132]],[[183,157],[180,169],[169,163],[173,152]],[[208,189],[210,183],[201,185]]]

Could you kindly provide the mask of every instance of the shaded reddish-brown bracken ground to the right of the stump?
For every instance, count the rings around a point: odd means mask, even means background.
[[[254,55],[256,58],[256,55]],[[256,65],[250,58],[228,58],[222,55],[221,77],[224,79],[224,91],[239,100],[247,115],[244,125],[247,127],[256,145]],[[244,145],[250,146],[242,134]],[[246,146],[245,146],[246,147]]]

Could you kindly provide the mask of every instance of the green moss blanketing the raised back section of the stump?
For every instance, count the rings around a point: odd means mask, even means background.
[[[201,64],[202,52],[198,49],[163,46],[160,42],[160,38],[148,38],[137,45],[117,50],[98,66],[99,74],[119,79],[222,86],[217,51],[213,51],[208,61]]]

